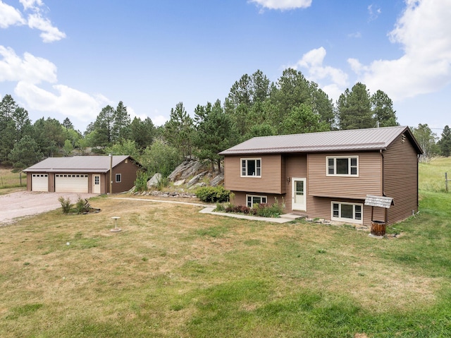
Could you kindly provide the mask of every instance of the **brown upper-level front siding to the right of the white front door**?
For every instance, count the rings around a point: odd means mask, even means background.
[[[358,176],[327,176],[327,157],[359,157]],[[346,152],[308,155],[307,190],[309,196],[354,198],[381,195],[382,157],[379,152]],[[308,205],[307,205],[308,208]]]

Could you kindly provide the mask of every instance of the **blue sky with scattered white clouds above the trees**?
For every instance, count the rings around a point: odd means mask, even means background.
[[[0,96],[85,131],[106,104],[163,124],[247,73],[358,81],[403,126],[451,125],[450,0],[0,0]]]

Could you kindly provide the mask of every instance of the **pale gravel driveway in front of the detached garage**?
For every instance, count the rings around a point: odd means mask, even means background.
[[[61,203],[58,198],[70,198],[71,203],[81,198],[96,196],[93,193],[38,193],[31,191],[19,191],[0,195],[0,226],[14,222],[18,217],[37,215],[42,212],[58,209]]]

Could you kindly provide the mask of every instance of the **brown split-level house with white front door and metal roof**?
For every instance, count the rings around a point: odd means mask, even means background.
[[[257,137],[220,153],[236,205],[277,200],[284,212],[364,225],[417,212],[421,154],[405,126]],[[393,204],[365,205],[368,195]]]

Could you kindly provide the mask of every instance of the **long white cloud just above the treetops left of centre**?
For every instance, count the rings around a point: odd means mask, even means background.
[[[96,119],[99,111],[111,102],[102,95],[92,96],[66,85],[54,85],[54,92],[44,90],[37,85],[20,81],[14,90],[19,99],[25,102],[27,109],[54,112],[61,116],[75,117],[89,122]]]

